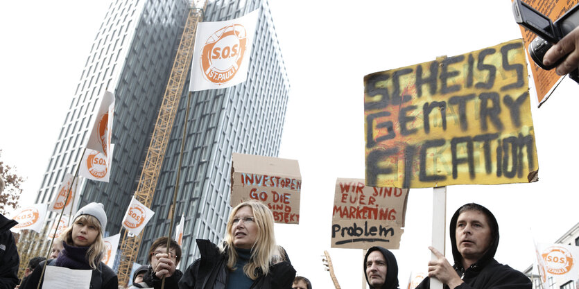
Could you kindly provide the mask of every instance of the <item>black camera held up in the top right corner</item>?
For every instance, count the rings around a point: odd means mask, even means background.
[[[579,4],[573,6],[565,12],[559,19],[554,22],[541,12],[535,10],[521,0],[512,1],[512,14],[515,15],[515,21],[533,31],[537,35],[529,44],[528,52],[530,58],[542,69],[550,70],[560,64],[567,56],[562,57],[553,65],[546,66],[543,64],[543,57],[548,49],[556,44],[565,35],[579,26]],[[569,73],[569,78],[579,83],[579,69]]]

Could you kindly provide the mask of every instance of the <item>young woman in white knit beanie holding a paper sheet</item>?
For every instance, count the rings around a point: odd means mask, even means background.
[[[103,234],[107,225],[107,215],[103,204],[92,202],[80,208],[75,216],[71,227],[62,232],[64,249],[57,259],[50,259],[47,265],[65,267],[76,270],[92,270],[90,288],[92,289],[116,289],[118,279],[114,271],[101,260],[105,254]],[[43,262],[44,263],[44,262]],[[44,265],[39,264],[40,266]],[[34,270],[28,280],[22,283],[21,288],[35,289],[40,279],[42,270]]]

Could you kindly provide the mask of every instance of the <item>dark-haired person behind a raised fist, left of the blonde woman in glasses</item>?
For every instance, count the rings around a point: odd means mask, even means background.
[[[146,267],[147,270],[142,281],[139,282],[137,280],[135,282],[133,280],[130,288],[161,288],[163,277],[165,277],[165,288],[177,288],[179,279],[183,276],[183,273],[176,269],[179,261],[181,261],[181,246],[177,241],[171,239],[168,256],[166,252],[167,237],[157,238],[150,245],[148,252],[150,265]]]

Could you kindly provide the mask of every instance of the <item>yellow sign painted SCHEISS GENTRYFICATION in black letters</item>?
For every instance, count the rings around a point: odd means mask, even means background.
[[[365,76],[365,183],[535,182],[526,71],[523,42],[512,40]]]

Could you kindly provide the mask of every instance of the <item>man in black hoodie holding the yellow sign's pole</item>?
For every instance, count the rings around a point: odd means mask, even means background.
[[[523,273],[494,260],[499,246],[499,223],[480,204],[465,204],[450,221],[450,240],[454,265],[437,249],[429,247],[438,260],[429,261],[429,277],[435,277],[450,289],[517,288],[531,289]],[[430,288],[426,277],[417,289]]]

